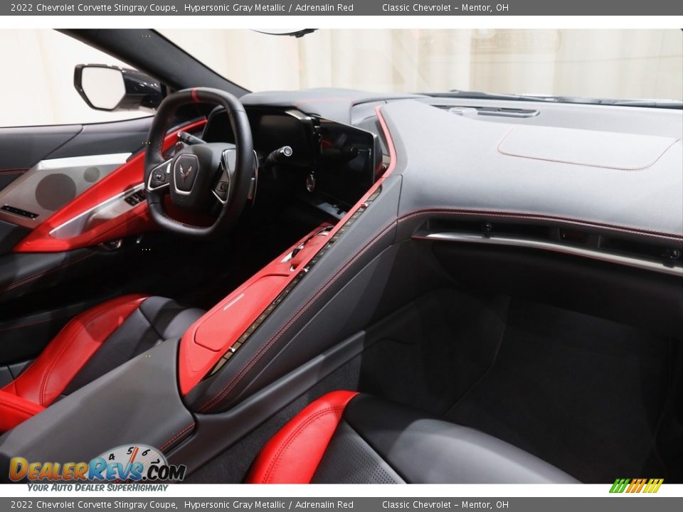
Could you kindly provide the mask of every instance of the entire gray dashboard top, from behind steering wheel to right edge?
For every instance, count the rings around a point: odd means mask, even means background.
[[[241,100],[354,124],[381,107],[396,146],[394,173],[404,176],[399,218],[441,209],[683,240],[681,110],[345,89]],[[482,107],[533,114],[482,115]]]

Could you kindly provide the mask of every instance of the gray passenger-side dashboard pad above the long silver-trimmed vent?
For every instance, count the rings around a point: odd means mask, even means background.
[[[515,127],[516,120],[470,119],[414,100],[389,102],[382,112],[398,155],[395,172],[403,175],[399,217],[463,210],[683,237],[680,111],[624,111],[641,125],[659,126],[655,134]],[[515,130],[504,148],[521,156],[502,151]]]

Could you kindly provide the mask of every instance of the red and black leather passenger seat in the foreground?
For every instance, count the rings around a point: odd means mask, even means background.
[[[477,430],[346,391],[312,402],[266,444],[250,483],[575,484]]]

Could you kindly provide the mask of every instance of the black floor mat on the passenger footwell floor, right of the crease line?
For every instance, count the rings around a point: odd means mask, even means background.
[[[585,483],[662,478],[671,366],[667,338],[513,299],[494,363],[445,417]]]

